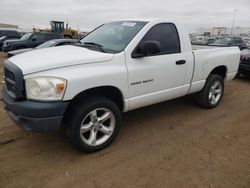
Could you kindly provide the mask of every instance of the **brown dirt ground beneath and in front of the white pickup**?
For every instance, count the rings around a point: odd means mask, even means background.
[[[250,79],[226,83],[216,109],[184,97],[126,113],[115,142],[94,154],[20,129],[2,107],[0,187],[250,187]]]

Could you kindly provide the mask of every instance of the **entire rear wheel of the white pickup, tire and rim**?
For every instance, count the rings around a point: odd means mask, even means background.
[[[204,108],[216,107],[224,94],[224,80],[221,76],[211,74],[202,91],[197,93],[197,102]]]

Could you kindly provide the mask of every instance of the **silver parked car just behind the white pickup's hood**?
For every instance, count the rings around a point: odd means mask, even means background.
[[[77,42],[78,42],[77,39],[53,39],[53,40],[49,40],[43,44],[40,44],[39,46],[37,46],[35,48],[24,48],[24,49],[9,51],[8,56],[11,57],[11,56],[21,54],[24,52],[28,52],[31,50],[49,48],[49,47],[53,47],[53,46],[73,45]]]

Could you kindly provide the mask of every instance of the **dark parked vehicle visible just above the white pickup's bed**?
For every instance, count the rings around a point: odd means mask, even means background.
[[[225,37],[210,44],[212,46],[238,46],[240,50],[246,48],[246,43],[241,37]]]

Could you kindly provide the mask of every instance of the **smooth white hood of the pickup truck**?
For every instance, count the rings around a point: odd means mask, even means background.
[[[23,74],[31,74],[61,67],[99,63],[113,59],[114,54],[77,46],[59,46],[33,50],[9,58]]]

